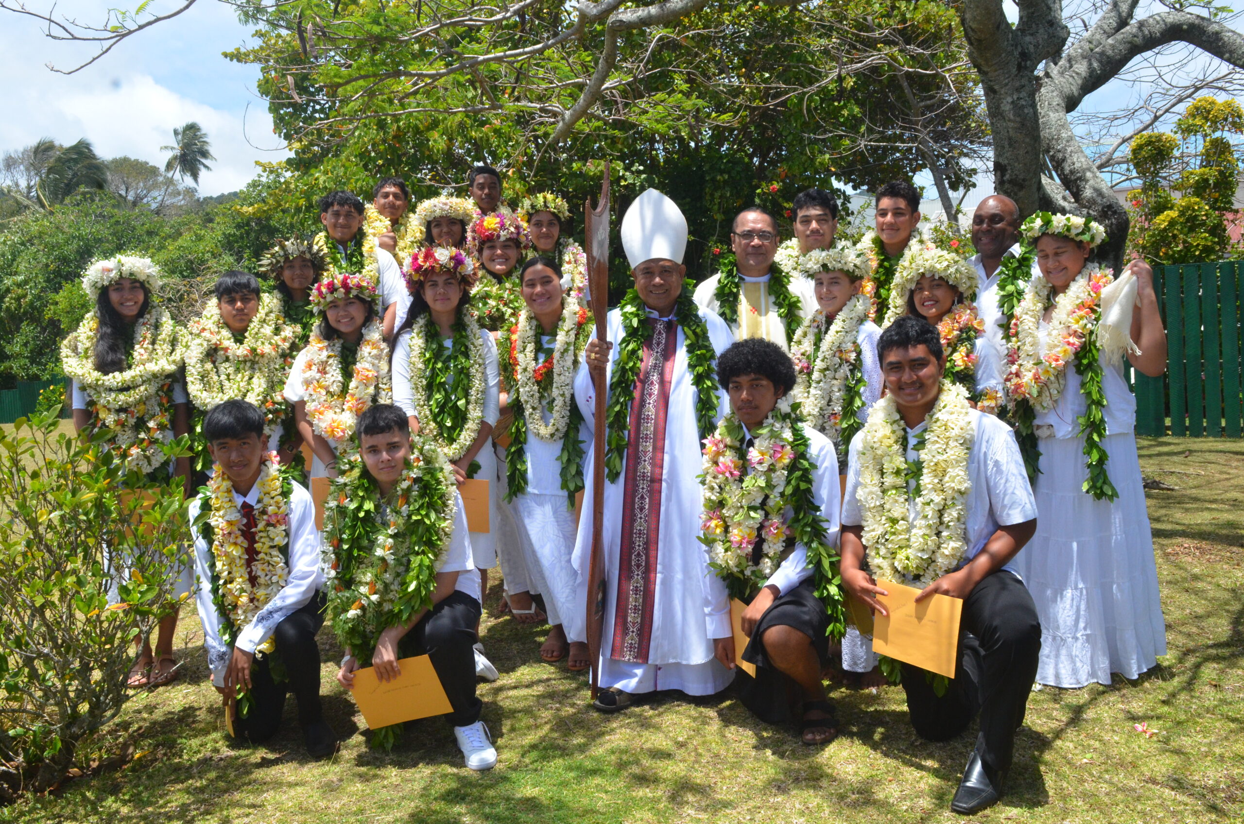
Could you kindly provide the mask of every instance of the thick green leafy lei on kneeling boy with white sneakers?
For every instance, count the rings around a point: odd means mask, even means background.
[[[411,446],[387,505],[358,456],[345,461],[325,502],[327,615],[363,666],[381,632],[432,606],[437,563],[453,538],[449,461],[430,438],[413,436]]]

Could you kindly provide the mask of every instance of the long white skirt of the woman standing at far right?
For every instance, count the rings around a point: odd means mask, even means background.
[[[1135,678],[1167,652],[1136,437],[1102,446],[1115,502],[1082,490],[1084,438],[1040,439],[1036,535],[1013,563],[1041,619],[1036,680],[1055,687]]]

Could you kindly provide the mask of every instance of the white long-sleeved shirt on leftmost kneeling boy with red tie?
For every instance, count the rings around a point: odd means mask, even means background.
[[[239,495],[234,490],[234,503],[241,507],[249,503],[259,505],[259,484],[250,488],[245,495]],[[190,523],[199,515],[199,499],[190,502]],[[323,585],[323,573],[320,569],[320,533],[315,528],[315,504],[311,502],[311,493],[301,485],[291,484],[289,500],[289,527],[290,527],[290,558],[289,576],[281,591],[267,602],[264,609],[255,615],[254,620],[245,627],[235,627],[238,637],[235,646],[246,652],[254,652],[256,647],[271,637],[276,625],[299,610],[311,600],[316,590]],[[211,545],[203,539],[200,531],[194,531],[194,574],[198,579],[198,590],[194,596],[195,606],[199,610],[199,620],[203,622],[203,646],[208,651],[208,667],[211,670],[211,682],[218,687],[225,686],[225,670],[233,650],[228,647],[220,637],[220,626],[224,616],[216,611],[216,605],[211,600],[211,573],[214,559]]]

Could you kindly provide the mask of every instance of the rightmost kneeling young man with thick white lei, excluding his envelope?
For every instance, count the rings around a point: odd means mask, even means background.
[[[886,614],[877,580],[963,599],[959,661],[947,682],[902,665],[916,732],[947,741],[980,716],[950,802],[970,815],[1003,793],[1036,677],[1041,625],[1010,563],[1036,531],[1036,503],[1010,428],[943,381],[935,327],[896,320],[877,341],[887,395],[851,441],[842,505],[842,585]],[[906,507],[893,507],[896,490]],[[902,500],[899,498],[898,500]],[[939,683],[940,680],[940,683]],[[940,695],[939,695],[940,693]]]

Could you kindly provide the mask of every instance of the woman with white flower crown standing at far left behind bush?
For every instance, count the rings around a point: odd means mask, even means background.
[[[172,475],[190,474],[189,458],[167,461],[160,448],[190,431],[190,413],[178,380],[184,358],[182,330],[156,299],[159,278],[159,269],[147,258],[119,255],[92,263],[82,285],[95,300],[95,311],[61,344],[61,366],[73,378],[73,428],[108,429],[102,448],[149,482],[168,483]],[[173,595],[188,595],[194,586],[190,565],[173,574],[178,578]],[[114,586],[109,601],[118,600]],[[149,639],[141,639],[129,686],[158,687],[177,677],[175,631],[173,612],[160,619],[154,652]]]

